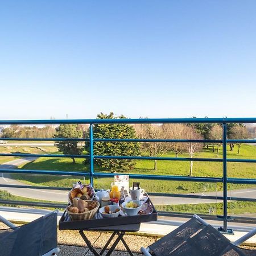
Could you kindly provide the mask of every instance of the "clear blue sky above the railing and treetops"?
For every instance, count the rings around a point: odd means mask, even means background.
[[[0,119],[255,117],[256,1],[3,1]]]

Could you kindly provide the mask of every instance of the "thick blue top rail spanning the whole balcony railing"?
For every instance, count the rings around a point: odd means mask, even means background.
[[[1,120],[0,125],[51,125],[97,123],[256,123],[256,118],[137,118],[137,119],[55,119]]]

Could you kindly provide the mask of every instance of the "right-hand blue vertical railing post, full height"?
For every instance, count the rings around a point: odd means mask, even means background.
[[[223,231],[228,231],[228,186],[226,171],[226,123],[222,123],[222,166],[223,166]]]

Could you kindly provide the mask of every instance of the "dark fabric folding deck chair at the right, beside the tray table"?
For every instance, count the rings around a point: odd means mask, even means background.
[[[194,215],[191,220],[185,222],[160,240],[152,243],[141,251],[146,256],[238,256],[254,255],[256,250],[247,250],[238,247],[256,234],[256,229],[251,230],[236,242],[230,242],[218,230],[214,229],[199,216]]]

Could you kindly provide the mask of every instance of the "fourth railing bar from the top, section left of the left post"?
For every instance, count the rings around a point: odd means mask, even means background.
[[[60,176],[90,176],[90,172],[66,172],[66,171],[47,171],[47,170],[21,170],[21,169],[1,169],[0,174],[47,174]]]

